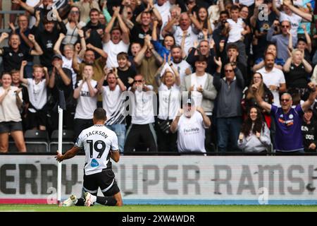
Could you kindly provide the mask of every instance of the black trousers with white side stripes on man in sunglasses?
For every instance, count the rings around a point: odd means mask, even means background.
[[[142,144],[143,151],[157,152],[156,133],[154,124],[130,124],[125,139],[125,153],[131,153],[133,150],[140,151]]]

